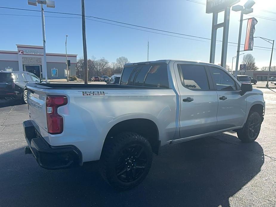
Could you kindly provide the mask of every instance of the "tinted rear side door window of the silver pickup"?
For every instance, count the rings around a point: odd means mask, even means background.
[[[206,69],[202,65],[179,64],[182,82],[186,88],[195,90],[209,90]]]

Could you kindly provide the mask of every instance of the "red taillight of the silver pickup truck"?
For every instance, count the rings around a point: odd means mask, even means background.
[[[50,134],[60,134],[63,131],[63,118],[58,114],[58,107],[68,103],[66,96],[47,96],[46,116],[47,128]]]

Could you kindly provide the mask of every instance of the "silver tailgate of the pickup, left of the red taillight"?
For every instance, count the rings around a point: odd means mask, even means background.
[[[30,121],[36,130],[47,140],[47,118],[46,118],[46,94],[45,89],[27,86],[27,100]]]

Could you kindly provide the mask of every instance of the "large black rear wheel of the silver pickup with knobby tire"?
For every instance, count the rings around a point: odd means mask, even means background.
[[[100,158],[101,175],[112,187],[127,190],[147,176],[152,163],[149,141],[132,132],[108,138]]]

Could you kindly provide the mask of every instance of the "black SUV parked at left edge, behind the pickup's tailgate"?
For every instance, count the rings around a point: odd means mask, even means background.
[[[41,83],[36,75],[30,72],[0,71],[0,99],[22,100],[27,104],[27,83]]]

